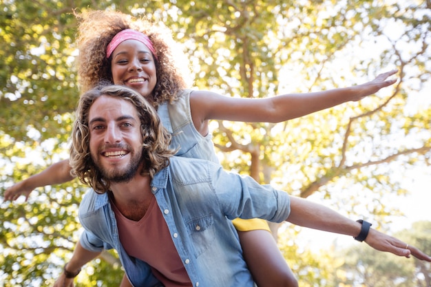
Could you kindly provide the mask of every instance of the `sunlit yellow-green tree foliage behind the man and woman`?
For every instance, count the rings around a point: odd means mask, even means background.
[[[79,95],[72,10],[87,8],[145,15],[167,25],[189,56],[196,87],[227,96],[346,87],[399,69],[394,87],[358,103],[279,124],[214,121],[215,145],[227,169],[249,173],[292,195],[317,194],[341,213],[372,218],[383,231],[395,215],[402,215],[400,206],[385,198],[410,192],[402,184],[407,171],[419,168],[431,174],[431,106],[418,100],[431,90],[429,1],[2,0],[2,192],[67,158]],[[28,204],[1,204],[0,286],[52,284],[78,240],[76,212],[84,192],[74,181],[38,189]],[[343,256],[336,259],[329,251],[316,257],[297,247],[299,229],[291,227],[280,231],[280,248],[302,286],[362,286],[379,274],[391,286],[431,285],[429,264],[413,259],[405,264],[407,259],[393,256],[377,262],[380,255],[370,248],[346,251],[348,256],[337,251]],[[401,235],[412,236],[430,254],[429,222],[412,228],[414,232]],[[357,254],[370,259],[361,262]],[[397,260],[403,262],[397,265],[402,270],[394,275],[390,264],[396,263],[390,262]],[[367,270],[379,262],[383,271],[370,275]],[[112,286],[122,274],[115,254],[104,253],[77,282]]]

